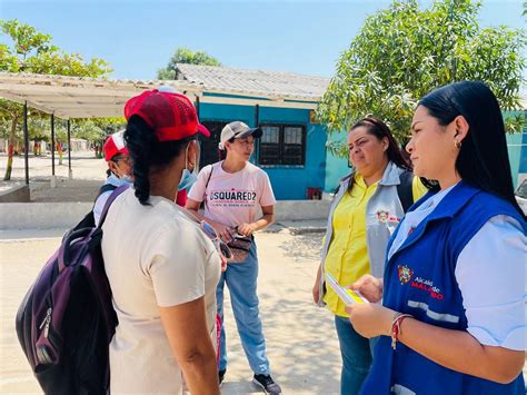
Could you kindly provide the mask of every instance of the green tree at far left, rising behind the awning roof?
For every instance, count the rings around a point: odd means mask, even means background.
[[[18,20],[0,20],[0,71],[34,72],[77,77],[101,77],[111,71],[109,65],[98,58],[86,62],[78,53],[67,53],[51,43],[51,36]],[[12,155],[17,128],[22,118],[22,106],[0,99],[0,119],[10,121],[8,164],[4,180],[11,179]]]

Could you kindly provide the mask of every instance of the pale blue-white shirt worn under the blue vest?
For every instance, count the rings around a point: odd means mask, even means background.
[[[406,214],[388,258],[453,188],[437,192]],[[480,344],[527,349],[526,257],[527,237],[520,224],[505,215],[490,218],[459,254],[455,276],[463,295],[467,330]]]

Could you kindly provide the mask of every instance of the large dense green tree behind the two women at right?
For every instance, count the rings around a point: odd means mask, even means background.
[[[372,113],[405,142],[418,100],[459,80],[483,80],[503,109],[520,108],[525,33],[507,27],[479,27],[479,8],[471,0],[436,0],[420,10],[416,0],[396,0],[368,17],[340,56],[317,110],[329,134]],[[523,122],[523,116],[508,118],[507,129],[521,130]],[[338,141],[328,147],[346,155]]]

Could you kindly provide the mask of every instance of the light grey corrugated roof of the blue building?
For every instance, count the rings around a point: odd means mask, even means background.
[[[231,69],[178,63],[178,79],[205,91],[258,96],[270,99],[319,101],[329,78],[292,72]]]

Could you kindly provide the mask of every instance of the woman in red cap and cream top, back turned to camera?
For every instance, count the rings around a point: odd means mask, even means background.
[[[146,91],[125,107],[133,189],[112,204],[102,255],[119,325],[110,344],[112,394],[219,394],[211,240],[173,200],[199,160],[196,109],[180,93]]]

